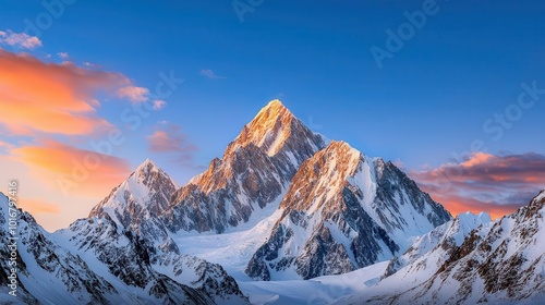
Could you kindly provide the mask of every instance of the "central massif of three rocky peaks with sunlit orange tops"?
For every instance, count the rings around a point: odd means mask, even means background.
[[[326,146],[278,100],[242,129],[222,159],[180,190],[173,185],[146,161],[92,216],[108,213],[177,254],[171,234],[238,230],[252,217],[252,223],[266,218],[264,209],[280,208],[270,237],[247,265],[259,279],[290,270],[308,279],[389,259],[412,236],[451,218],[392,163],[342,142]]]

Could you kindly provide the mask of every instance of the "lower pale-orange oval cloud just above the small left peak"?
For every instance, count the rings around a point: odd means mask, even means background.
[[[12,150],[40,181],[64,196],[108,194],[131,173],[123,159],[75,148],[56,141]]]

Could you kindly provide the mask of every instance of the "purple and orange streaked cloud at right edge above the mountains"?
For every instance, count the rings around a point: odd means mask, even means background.
[[[412,172],[419,185],[452,213],[488,211],[500,217],[545,190],[545,156],[477,152],[461,163]]]

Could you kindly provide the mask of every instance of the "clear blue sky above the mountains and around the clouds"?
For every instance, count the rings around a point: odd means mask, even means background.
[[[541,1],[265,0],[243,22],[232,1],[44,2],[62,3],[63,12],[40,33],[26,32],[43,47],[7,50],[45,62],[92,63],[152,93],[161,72],[184,80],[165,98],[167,107],[126,132],[128,141],[113,151],[132,168],[149,157],[180,183],[220,157],[275,98],[316,132],[407,170],[447,163],[453,152],[470,152],[476,139],[493,155],[545,154],[545,95],[529,109],[512,106],[522,83],[545,88]],[[0,30],[24,32],[25,19],[44,23],[40,14],[47,14],[40,1],[0,5]],[[387,50],[387,30],[397,33],[408,22],[405,12],[423,5],[435,13],[379,68],[370,49]],[[126,103],[108,99],[102,97],[98,114],[120,126]],[[494,115],[506,111],[517,120],[501,126]],[[174,161],[177,151],[147,148],[158,122],[180,129],[191,147],[180,151],[193,159]],[[15,145],[17,138],[4,142]],[[89,149],[85,141],[56,138]]]

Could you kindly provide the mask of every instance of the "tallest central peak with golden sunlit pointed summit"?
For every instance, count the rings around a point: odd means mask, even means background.
[[[278,204],[301,163],[324,146],[320,136],[274,100],[221,159],[175,192],[164,222],[172,232],[217,233],[246,223],[255,211]]]

